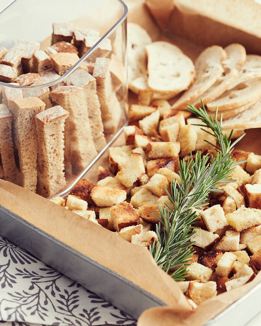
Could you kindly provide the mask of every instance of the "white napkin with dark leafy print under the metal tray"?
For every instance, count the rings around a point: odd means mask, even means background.
[[[0,236],[0,322],[136,325],[136,320]]]

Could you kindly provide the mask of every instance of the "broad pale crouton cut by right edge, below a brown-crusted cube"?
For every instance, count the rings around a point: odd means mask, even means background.
[[[241,206],[226,215],[228,223],[238,232],[261,225],[261,210]]]

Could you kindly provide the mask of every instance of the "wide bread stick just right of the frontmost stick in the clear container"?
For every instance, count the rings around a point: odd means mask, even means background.
[[[65,121],[65,166],[83,170],[97,155],[88,118],[84,89],[61,86],[50,92],[54,102],[69,112]]]

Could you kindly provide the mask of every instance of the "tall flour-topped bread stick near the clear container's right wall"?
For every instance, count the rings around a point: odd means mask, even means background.
[[[113,91],[110,59],[97,58],[93,70],[100,101],[101,118],[105,133],[114,133],[121,117],[120,103]]]

